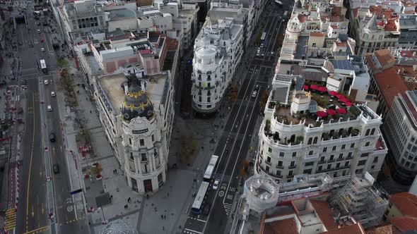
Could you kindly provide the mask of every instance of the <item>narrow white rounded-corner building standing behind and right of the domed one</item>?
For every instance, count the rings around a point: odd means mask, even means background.
[[[243,25],[233,18],[206,21],[194,44],[192,107],[213,113],[235,75],[243,54]]]

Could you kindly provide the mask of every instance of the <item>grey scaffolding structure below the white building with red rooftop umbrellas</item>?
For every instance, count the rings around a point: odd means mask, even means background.
[[[373,183],[374,178],[369,173],[364,178],[351,176],[348,183],[329,198],[329,204],[336,209],[336,218],[353,216],[364,228],[379,224],[389,202]]]

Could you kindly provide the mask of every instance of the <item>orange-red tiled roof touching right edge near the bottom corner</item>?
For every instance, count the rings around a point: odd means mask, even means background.
[[[402,215],[417,218],[417,197],[415,195],[409,192],[400,192],[391,195],[389,201],[401,211]]]

